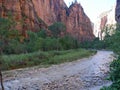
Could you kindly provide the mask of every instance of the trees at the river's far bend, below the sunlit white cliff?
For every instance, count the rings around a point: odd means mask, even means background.
[[[111,49],[113,48],[113,44],[114,44],[113,39],[118,38],[116,37],[116,34],[118,32],[115,31],[117,31],[115,25],[106,26],[102,30],[102,34],[105,35],[103,40],[100,40],[99,38],[95,38],[93,41],[85,41],[80,44],[80,47],[87,49]]]

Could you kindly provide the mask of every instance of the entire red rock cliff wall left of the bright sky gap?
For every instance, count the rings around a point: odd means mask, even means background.
[[[0,17],[8,17],[8,12],[23,34],[63,22],[67,32],[80,41],[94,38],[91,21],[77,2],[68,8],[63,0],[0,0]]]

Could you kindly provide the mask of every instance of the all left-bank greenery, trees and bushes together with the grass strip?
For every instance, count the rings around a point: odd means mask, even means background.
[[[95,53],[78,49],[80,42],[65,33],[66,26],[62,22],[49,26],[50,35],[47,30],[42,29],[38,32],[27,31],[27,37],[24,37],[20,31],[11,28],[15,27],[13,23],[15,22],[10,18],[0,18],[2,70],[59,64]]]

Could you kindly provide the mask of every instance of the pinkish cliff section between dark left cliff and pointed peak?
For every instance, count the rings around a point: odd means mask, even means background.
[[[32,0],[37,15],[47,24],[66,19],[68,9],[63,0]]]

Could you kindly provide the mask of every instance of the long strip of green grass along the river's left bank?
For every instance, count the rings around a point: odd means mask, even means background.
[[[94,55],[95,51],[72,49],[65,51],[33,52],[20,55],[2,55],[2,70],[11,70],[31,66],[49,66],[64,62],[71,62],[80,58]]]

